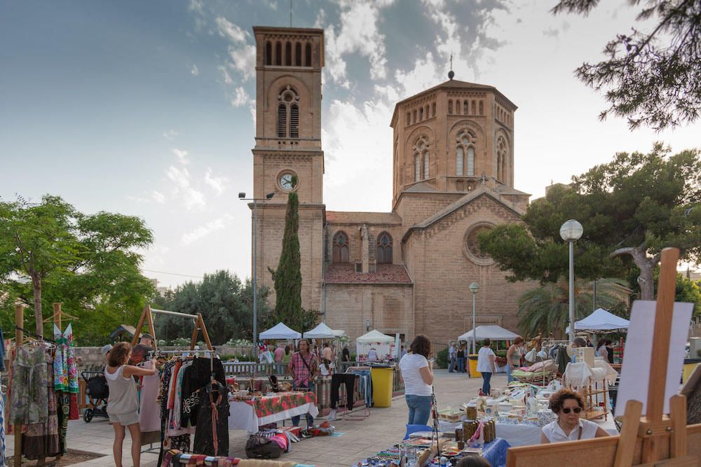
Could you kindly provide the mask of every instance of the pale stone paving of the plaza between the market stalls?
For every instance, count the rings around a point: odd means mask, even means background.
[[[447,370],[436,370],[435,392],[438,407],[458,407],[463,402],[477,395],[482,387],[482,379],[469,379],[465,374],[449,373]],[[506,384],[506,375],[498,373],[492,378],[493,387]],[[336,420],[333,425],[336,432],[343,433],[338,437],[320,437],[295,442],[290,452],[283,454],[280,460],[310,463],[316,466],[350,466],[355,461],[372,455],[404,437],[407,423],[407,405],[404,396],[394,398],[392,407],[370,409],[370,416],[360,421]],[[290,422],[287,421],[287,424]],[[301,422],[304,425],[304,417]],[[229,455],[245,458],[247,434],[244,431],[229,431]],[[97,417],[89,424],[82,420],[71,421],[68,428],[68,446],[70,449],[104,454],[104,457],[92,461],[74,464],[76,467],[111,466],[112,440],[114,440],[111,425],[107,419]],[[8,455],[13,452],[13,437],[7,439]],[[148,446],[144,446],[144,449]],[[130,438],[124,441],[123,465],[131,466],[129,455]],[[158,449],[142,454],[142,466],[157,467]],[[34,463],[28,463],[33,465]]]

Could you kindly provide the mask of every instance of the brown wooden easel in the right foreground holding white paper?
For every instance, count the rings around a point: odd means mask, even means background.
[[[512,447],[507,453],[507,467],[701,466],[701,424],[686,426],[686,397],[672,396],[669,400],[669,416],[662,414],[677,260],[678,249],[662,250],[645,417],[641,417],[642,403],[629,400],[625,405],[619,436]]]

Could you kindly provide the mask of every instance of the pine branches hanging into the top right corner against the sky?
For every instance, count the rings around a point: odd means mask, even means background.
[[[629,0],[644,4],[638,22],[651,21],[650,32],[632,27],[604,48],[605,60],[576,70],[583,83],[603,92],[609,113],[627,118],[631,128],[655,130],[691,123],[701,109],[701,1]],[[599,0],[560,0],[552,12],[587,15]]]

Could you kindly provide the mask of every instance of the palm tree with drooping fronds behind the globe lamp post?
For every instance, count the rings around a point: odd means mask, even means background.
[[[627,312],[627,282],[623,279],[599,279],[597,281],[597,307],[614,314]],[[576,320],[592,312],[594,284],[576,280],[574,287]],[[564,333],[569,320],[569,283],[566,280],[534,288],[519,297],[519,328],[524,335],[549,335]]]

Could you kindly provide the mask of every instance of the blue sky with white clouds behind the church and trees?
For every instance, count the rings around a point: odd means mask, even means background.
[[[573,74],[629,32],[636,8],[587,18],[554,0],[292,1],[325,29],[328,210],[390,211],[396,102],[455,78],[494,85],[515,113],[515,188],[543,196],[619,151],[700,146],[701,124],[630,131]],[[147,277],[175,287],[250,277],[252,27],[289,26],[290,1],[0,0],[0,197],[60,195],[80,211],[143,218]],[[649,25],[639,25],[643,29]]]

